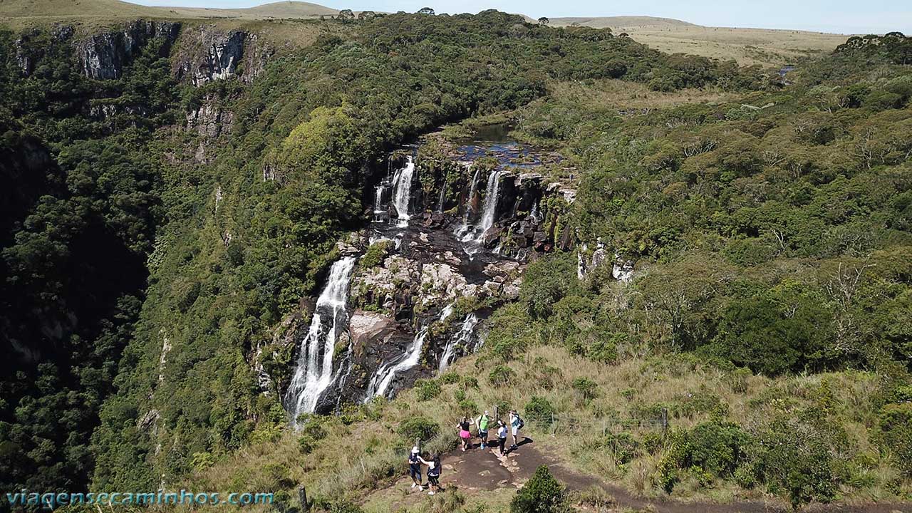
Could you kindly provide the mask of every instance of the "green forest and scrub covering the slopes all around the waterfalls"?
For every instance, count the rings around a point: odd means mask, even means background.
[[[370,494],[414,436],[453,449],[437,419],[499,404],[544,446],[559,419],[664,410],[666,431],[559,449],[640,497],[912,500],[912,39],[783,77],[497,11],[299,23],[316,42],[202,87],[161,37],[97,80],[78,36],[0,30],[0,491],[233,487],[289,511],[306,484],[317,510],[390,510]],[[230,133],[182,128],[203,104]],[[295,432],[251,354],[369,222],[389,152],[492,116],[563,156],[573,244],[536,255],[477,354]],[[632,281],[577,277],[599,244]],[[503,508],[603,500],[530,483]],[[419,510],[500,510],[472,498]]]

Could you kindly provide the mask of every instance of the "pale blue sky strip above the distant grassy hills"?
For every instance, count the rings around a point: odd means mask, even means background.
[[[250,7],[270,0],[130,0],[142,5]],[[750,26],[835,32],[840,34],[912,34],[910,0],[325,0],[336,9],[414,12],[431,7],[438,13],[477,13],[498,9],[539,17],[661,16],[705,26]]]

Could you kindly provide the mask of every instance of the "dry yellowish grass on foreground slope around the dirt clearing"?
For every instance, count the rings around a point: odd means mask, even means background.
[[[851,445],[858,453],[876,456],[864,424],[865,417],[873,414],[870,397],[876,389],[876,378],[868,373],[737,378],[684,358],[629,360],[606,365],[571,356],[562,348],[543,346],[532,348],[522,359],[508,363],[515,373],[510,385],[493,386],[487,376],[495,363],[480,361],[477,356],[457,362],[451,372],[460,376],[459,382],[444,384],[436,399],[419,401],[415,391],[406,391],[392,402],[379,401],[361,408],[359,420],[354,424],[343,424],[338,417],[326,418],[323,420],[326,438],[310,454],[303,454],[298,448],[298,434],[285,431],[273,443],[247,447],[196,474],[192,486],[230,490],[250,489],[251,484],[256,484],[275,489],[281,483],[303,483],[312,497],[355,500],[368,506],[368,510],[389,509],[390,505],[399,503],[401,492],[389,485],[404,473],[404,458],[410,445],[396,433],[399,422],[412,415],[430,418],[440,424],[442,435],[430,443],[429,449],[451,447],[456,442],[452,424],[461,414],[458,398],[462,393],[465,394],[463,404],[474,403],[480,410],[493,410],[495,404],[502,404],[524,411],[534,396],[546,398],[558,413],[555,424],[527,420],[526,426],[527,434],[534,438],[539,450],[565,466],[620,484],[645,497],[663,494],[652,479],[662,453],[642,454],[626,465],[619,464],[608,451],[598,448],[603,430],[625,432],[637,438],[657,434],[660,428],[654,425],[622,423],[634,418],[644,407],[657,403],[686,405],[694,395],[718,398],[728,411],[727,417],[750,430],[779,407],[777,401],[783,397],[797,404],[818,402],[821,384],[828,382],[837,391],[834,418],[844,426]],[[466,378],[469,382],[477,379],[480,386],[466,386]],[[596,382],[595,398],[584,402],[571,386],[575,378]],[[676,414],[676,411],[685,413]],[[710,413],[699,409],[686,413],[686,408],[673,408],[669,424],[671,429],[689,428],[710,417]],[[876,465],[870,472],[877,482],[888,481],[888,467]],[[855,490],[844,492],[852,496]],[[673,495],[728,502],[761,494],[731,484],[705,488],[685,481],[676,487]],[[868,490],[865,497],[889,497],[889,492],[877,486]]]

